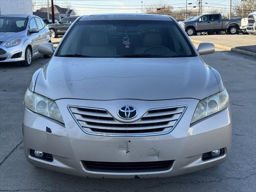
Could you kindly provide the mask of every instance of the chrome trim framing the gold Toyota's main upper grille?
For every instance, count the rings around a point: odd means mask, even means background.
[[[170,107],[162,107],[162,108],[151,108],[148,109],[144,114],[146,114],[149,110],[159,110],[159,109],[167,109],[167,108],[178,108],[178,107],[185,107],[183,112],[180,114],[180,117],[178,118],[178,120],[175,122],[175,124],[172,126],[172,128],[166,132],[161,132],[161,133],[151,133],[151,134],[100,134],[100,133],[92,133],[92,132],[88,132],[86,130],[84,130],[82,128],[82,126],[80,125],[80,123],[76,120],[73,112],[70,110],[70,107],[74,107],[74,108],[87,108],[87,109],[95,109],[95,110],[106,110],[106,109],[101,109],[101,108],[91,108],[91,107],[83,107],[83,106],[74,106],[74,105],[68,105],[67,108],[70,112],[70,114],[72,115],[73,119],[75,120],[76,124],[78,124],[78,126],[80,127],[80,129],[90,135],[96,135],[96,136],[110,136],[110,137],[143,137],[143,136],[157,136],[157,135],[164,135],[164,134],[168,134],[170,132],[172,132],[172,130],[174,130],[174,128],[176,127],[176,125],[178,124],[178,122],[180,121],[180,119],[182,118],[183,114],[185,113],[186,109],[187,109],[187,105],[180,105],[180,106],[170,106]],[[108,112],[108,110],[106,110]],[[109,113],[109,112],[108,112]],[[109,113],[110,114],[110,113]],[[142,117],[144,116],[144,114],[142,115]],[[142,118],[141,117],[141,118]],[[114,118],[114,117],[113,117]],[[138,120],[140,120],[141,118],[139,118]],[[115,118],[114,118],[115,119]],[[138,121],[136,120],[136,121]]]

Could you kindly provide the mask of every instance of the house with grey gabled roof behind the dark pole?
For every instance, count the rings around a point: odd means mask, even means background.
[[[47,19],[47,7],[42,7],[36,12],[33,12],[33,15],[36,15],[42,19]],[[57,20],[60,20],[63,17],[75,15],[75,12],[73,9],[70,8],[62,8],[58,5],[54,5],[54,17]],[[52,20],[52,7],[49,7],[49,20]]]

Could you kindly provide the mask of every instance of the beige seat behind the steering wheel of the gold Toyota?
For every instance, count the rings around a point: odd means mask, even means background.
[[[134,48],[134,54],[143,54],[152,46],[161,46],[162,38],[157,32],[147,32],[142,36],[141,46]]]

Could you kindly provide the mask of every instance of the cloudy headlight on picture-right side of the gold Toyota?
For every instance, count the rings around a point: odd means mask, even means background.
[[[224,88],[221,92],[208,96],[197,104],[191,123],[210,116],[225,109],[229,104],[228,92]]]

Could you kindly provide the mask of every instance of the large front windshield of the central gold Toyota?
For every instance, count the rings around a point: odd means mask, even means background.
[[[78,21],[56,56],[189,57],[196,56],[188,38],[173,21]]]

